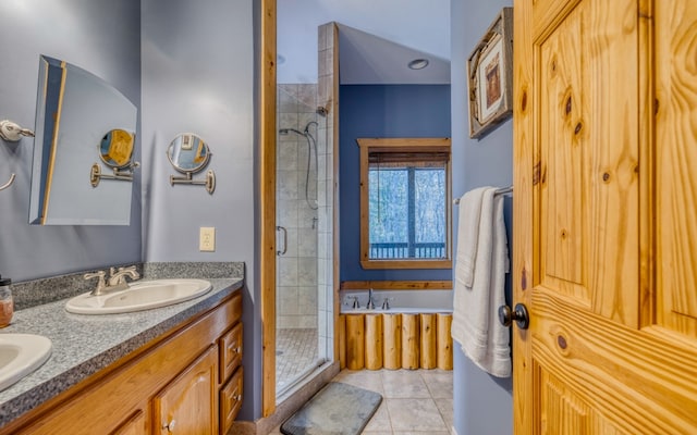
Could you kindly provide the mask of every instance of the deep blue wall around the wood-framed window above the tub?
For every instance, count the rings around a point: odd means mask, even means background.
[[[364,137],[450,137],[448,85],[342,85],[339,101],[341,281],[450,279],[450,270],[360,268],[360,152]]]

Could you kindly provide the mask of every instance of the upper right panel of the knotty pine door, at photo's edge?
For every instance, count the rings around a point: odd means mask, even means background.
[[[697,3],[656,10],[657,324],[697,338]]]

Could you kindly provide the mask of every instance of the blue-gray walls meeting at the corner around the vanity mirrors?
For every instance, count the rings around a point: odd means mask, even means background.
[[[0,184],[17,174],[0,191],[0,273],[19,282],[140,261],[244,261],[245,420],[260,417],[261,384],[254,303],[255,3],[0,2],[0,120],[34,128],[39,54],[59,58],[102,77],[138,107],[136,160],[143,163],[130,225],[30,226],[33,139],[0,141]],[[211,148],[212,196],[200,186],[169,184],[174,170],[164,152],[183,132]],[[198,251],[200,226],[217,228],[215,252]]]

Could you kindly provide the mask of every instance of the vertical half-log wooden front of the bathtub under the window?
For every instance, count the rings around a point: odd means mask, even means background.
[[[341,314],[341,368],[452,370],[451,323],[452,313]]]

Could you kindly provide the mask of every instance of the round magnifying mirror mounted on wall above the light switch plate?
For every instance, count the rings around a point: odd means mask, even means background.
[[[206,179],[195,181],[194,174],[203,171],[210,161],[208,144],[199,136],[183,133],[174,138],[167,148],[167,158],[174,169],[184,176],[170,175],[170,184],[192,184],[206,186],[210,195],[216,190],[216,174],[212,170],[206,173]]]

